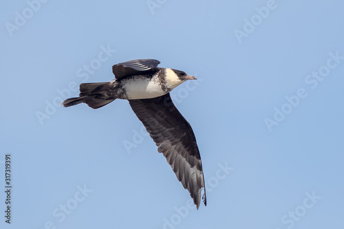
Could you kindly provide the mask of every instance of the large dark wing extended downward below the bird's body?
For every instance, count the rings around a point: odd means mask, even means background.
[[[129,100],[129,104],[158,146],[158,152],[164,154],[178,180],[189,190],[197,209],[202,188],[206,205],[202,162],[195,135],[189,122],[173,104],[170,94]]]

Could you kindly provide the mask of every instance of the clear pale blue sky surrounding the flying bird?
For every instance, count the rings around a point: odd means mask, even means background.
[[[343,9],[343,1],[6,1],[0,228],[344,228]],[[206,207],[190,209],[127,101],[59,105],[80,83],[112,80],[112,65],[137,58],[199,78],[171,96],[197,138]]]

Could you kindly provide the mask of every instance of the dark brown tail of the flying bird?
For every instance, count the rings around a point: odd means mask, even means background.
[[[78,98],[67,98],[61,105],[70,107],[85,102],[89,107],[97,109],[114,101],[116,98],[107,96],[105,83],[82,83],[80,84],[80,94]]]

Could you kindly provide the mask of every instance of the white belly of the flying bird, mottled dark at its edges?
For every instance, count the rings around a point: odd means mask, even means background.
[[[135,100],[142,98],[155,98],[163,96],[168,91],[164,91],[156,80],[150,78],[129,78],[123,84],[127,99]]]

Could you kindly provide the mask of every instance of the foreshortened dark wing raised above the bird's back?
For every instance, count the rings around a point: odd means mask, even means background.
[[[118,63],[112,66],[112,72],[116,79],[140,74],[149,74],[158,71],[160,61],[153,59],[140,59]]]

